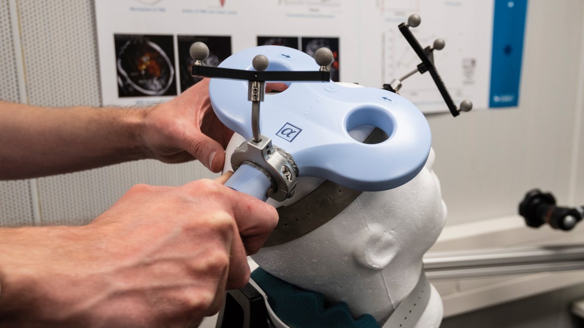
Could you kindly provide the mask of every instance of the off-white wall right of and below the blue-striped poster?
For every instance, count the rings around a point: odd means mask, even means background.
[[[516,214],[534,187],[568,199],[583,6],[529,1],[519,109],[429,117],[448,225]]]

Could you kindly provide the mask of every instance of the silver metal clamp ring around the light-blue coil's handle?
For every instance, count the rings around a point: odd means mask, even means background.
[[[239,169],[243,162],[255,163],[269,173],[272,187],[266,196],[283,201],[294,195],[298,166],[289,153],[272,145],[272,139],[261,135],[259,142],[252,138],[241,144],[231,155],[233,170]]]

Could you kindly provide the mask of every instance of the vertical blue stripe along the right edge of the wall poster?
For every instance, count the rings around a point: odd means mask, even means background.
[[[489,107],[519,103],[527,0],[495,0]]]

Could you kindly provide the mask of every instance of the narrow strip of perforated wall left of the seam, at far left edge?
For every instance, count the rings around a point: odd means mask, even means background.
[[[18,75],[8,0],[0,0],[0,100],[19,102]],[[32,225],[28,181],[0,182],[0,226]]]

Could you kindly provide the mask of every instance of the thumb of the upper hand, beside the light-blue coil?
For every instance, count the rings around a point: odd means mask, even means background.
[[[202,133],[187,139],[185,150],[191,153],[211,172],[221,172],[225,162],[225,152],[219,142]]]

